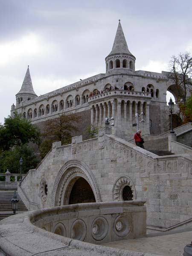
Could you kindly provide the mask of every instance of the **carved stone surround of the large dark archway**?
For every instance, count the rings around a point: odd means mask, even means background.
[[[101,202],[101,195],[96,179],[90,168],[83,162],[70,160],[58,172],[52,190],[52,206],[68,204],[71,189],[78,177],[84,178],[93,190],[96,202]]]

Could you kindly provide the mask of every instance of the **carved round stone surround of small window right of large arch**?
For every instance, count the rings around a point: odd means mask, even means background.
[[[130,186],[131,190],[133,192],[133,200],[136,199],[136,190],[134,187],[134,183],[132,182],[132,180],[129,177],[126,176],[121,176],[119,177],[114,186],[113,186],[113,201],[123,201],[122,198],[122,191],[125,188],[125,186]]]

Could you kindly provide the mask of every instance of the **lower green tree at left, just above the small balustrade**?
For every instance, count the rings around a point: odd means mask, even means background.
[[[14,148],[3,151],[0,154],[0,172],[6,172],[6,169],[9,169],[9,172],[11,173],[19,173],[20,157],[23,158],[23,173],[28,172],[29,169],[35,169],[40,162],[40,157],[34,154],[34,151],[29,147],[29,145],[24,144],[15,146]]]

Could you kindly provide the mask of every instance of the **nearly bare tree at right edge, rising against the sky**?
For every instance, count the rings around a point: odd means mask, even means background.
[[[192,56],[190,56],[190,52],[180,52],[177,57],[173,55],[169,66],[171,72],[169,78],[174,80],[178,96],[185,103],[187,87],[192,86]]]

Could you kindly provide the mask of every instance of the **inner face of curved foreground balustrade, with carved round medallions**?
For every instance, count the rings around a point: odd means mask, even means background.
[[[101,244],[146,235],[145,201],[73,204],[40,209],[31,222],[68,238]]]

